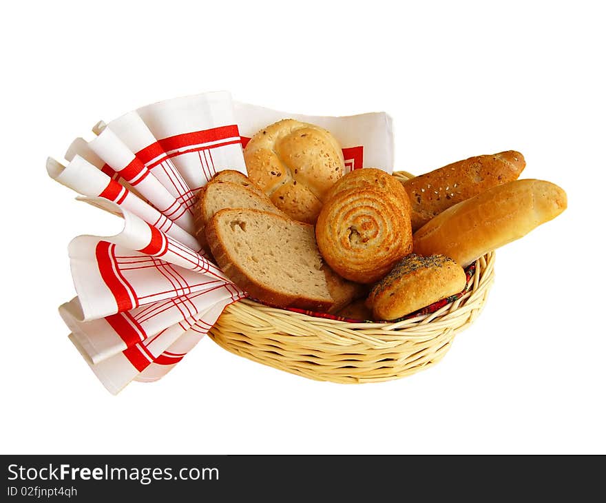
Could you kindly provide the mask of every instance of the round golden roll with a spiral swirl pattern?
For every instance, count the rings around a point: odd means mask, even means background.
[[[326,197],[315,237],[337,274],[357,283],[375,283],[412,251],[406,191],[375,168],[346,174]]]

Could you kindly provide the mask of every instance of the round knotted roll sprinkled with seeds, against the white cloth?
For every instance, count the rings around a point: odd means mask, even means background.
[[[328,189],[345,173],[333,135],[284,119],[260,130],[244,149],[249,178],[295,220],[315,223]]]

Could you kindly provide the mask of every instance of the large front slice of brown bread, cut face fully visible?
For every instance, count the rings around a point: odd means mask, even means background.
[[[224,273],[253,298],[314,311],[337,305],[313,225],[258,209],[221,209],[209,220],[206,238]]]

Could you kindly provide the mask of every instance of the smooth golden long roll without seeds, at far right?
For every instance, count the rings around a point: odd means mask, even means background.
[[[466,267],[552,220],[566,205],[566,193],[550,182],[516,180],[497,185],[432,218],[412,236],[413,251],[446,255]]]

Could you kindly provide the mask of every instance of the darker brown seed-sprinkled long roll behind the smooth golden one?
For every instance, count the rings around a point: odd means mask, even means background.
[[[410,198],[412,232],[445,209],[496,185],[516,180],[526,163],[520,152],[475,156],[401,181]]]

